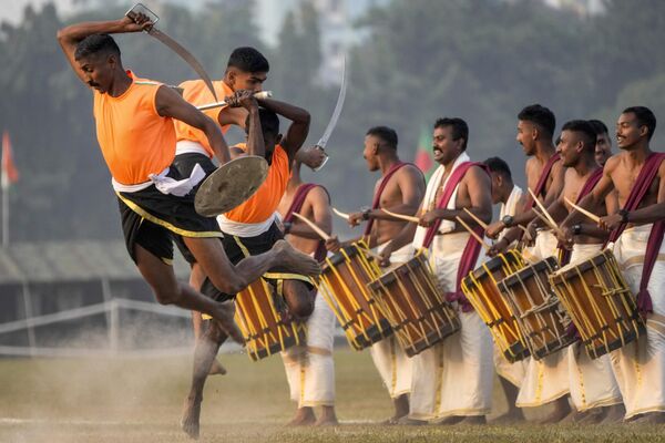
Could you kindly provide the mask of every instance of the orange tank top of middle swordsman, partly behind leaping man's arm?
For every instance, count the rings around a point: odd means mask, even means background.
[[[208,103],[214,103],[215,97],[207,89],[203,80],[188,80],[186,82],[182,82],[180,87],[183,89],[183,99],[187,102],[192,103],[194,106],[201,106]],[[213,82],[213,86],[215,87],[215,93],[217,94],[217,99],[224,100],[225,96],[232,95],[233,90],[226,85],[223,81]],[[227,106],[215,107],[212,110],[203,111],[205,115],[213,119],[217,125],[219,125],[219,113]],[[197,142],[201,144],[205,151],[208,153],[208,156],[212,158],[215,153],[208,143],[205,133],[196,127],[190,126],[188,124],[174,120],[175,125],[175,137],[180,142],[181,140],[188,140],[192,142]],[[222,133],[226,133],[231,125],[221,126]]]

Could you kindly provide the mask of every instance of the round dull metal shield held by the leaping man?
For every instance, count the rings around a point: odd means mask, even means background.
[[[234,158],[212,173],[198,187],[194,208],[215,217],[252,197],[268,176],[268,163],[256,155]]]

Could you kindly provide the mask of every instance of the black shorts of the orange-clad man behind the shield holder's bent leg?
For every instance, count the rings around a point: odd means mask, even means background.
[[[284,238],[284,234],[282,234],[282,230],[279,230],[276,223],[273,223],[268,230],[255,237],[238,237],[228,233],[223,234],[224,238],[222,238],[222,244],[224,245],[224,251],[234,265],[237,265],[246,257],[267,253],[273,248],[273,245],[275,245],[277,240]],[[270,268],[263,277],[277,288],[280,287],[278,284],[280,280],[300,280],[306,284],[308,289],[314,289],[314,285],[309,277],[294,274],[288,269],[280,267]],[[235,295],[228,295],[217,290],[208,278],[203,282],[201,292],[218,301],[228,300],[235,297]]]

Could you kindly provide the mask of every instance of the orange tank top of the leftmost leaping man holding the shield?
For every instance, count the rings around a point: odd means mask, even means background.
[[[155,96],[162,83],[140,79],[120,96],[94,91],[96,136],[116,182],[136,185],[158,174],[175,157],[173,121],[157,113]]]

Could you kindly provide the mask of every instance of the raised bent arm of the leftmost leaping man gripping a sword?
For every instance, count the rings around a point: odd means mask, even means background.
[[[89,21],[69,25],[58,31],[58,42],[72,65],[72,69],[83,83],[88,83],[85,73],[81,71],[74,53],[76,45],[86,37],[93,34],[117,34],[124,32],[141,32],[152,27],[152,22],[144,14],[137,14],[134,19],[123,17],[120,20],[112,21]]]

